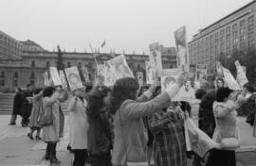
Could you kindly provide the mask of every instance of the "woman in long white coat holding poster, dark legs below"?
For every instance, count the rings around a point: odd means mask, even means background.
[[[73,166],[84,166],[87,156],[87,129],[88,122],[85,113],[87,102],[82,96],[85,88],[74,91],[67,108],[69,112],[69,142],[74,152]]]

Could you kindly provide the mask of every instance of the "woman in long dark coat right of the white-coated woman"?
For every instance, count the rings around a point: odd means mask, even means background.
[[[87,136],[91,166],[111,165],[112,132],[106,109],[109,105],[109,91],[107,87],[96,86],[87,98]]]

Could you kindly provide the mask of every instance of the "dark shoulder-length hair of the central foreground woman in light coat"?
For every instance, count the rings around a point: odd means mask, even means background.
[[[136,100],[138,87],[137,79],[134,77],[119,78],[111,91],[110,101],[112,113],[116,113],[125,100]]]

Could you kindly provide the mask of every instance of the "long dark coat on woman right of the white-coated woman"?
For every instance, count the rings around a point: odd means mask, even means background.
[[[112,147],[110,123],[102,102],[101,91],[92,91],[87,96],[88,151],[99,156],[109,153]]]

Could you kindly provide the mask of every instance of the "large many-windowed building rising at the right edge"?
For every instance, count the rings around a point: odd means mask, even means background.
[[[215,71],[215,62],[221,54],[234,50],[255,48],[256,1],[248,3],[217,22],[200,29],[189,45],[190,64],[207,64],[208,73]]]

